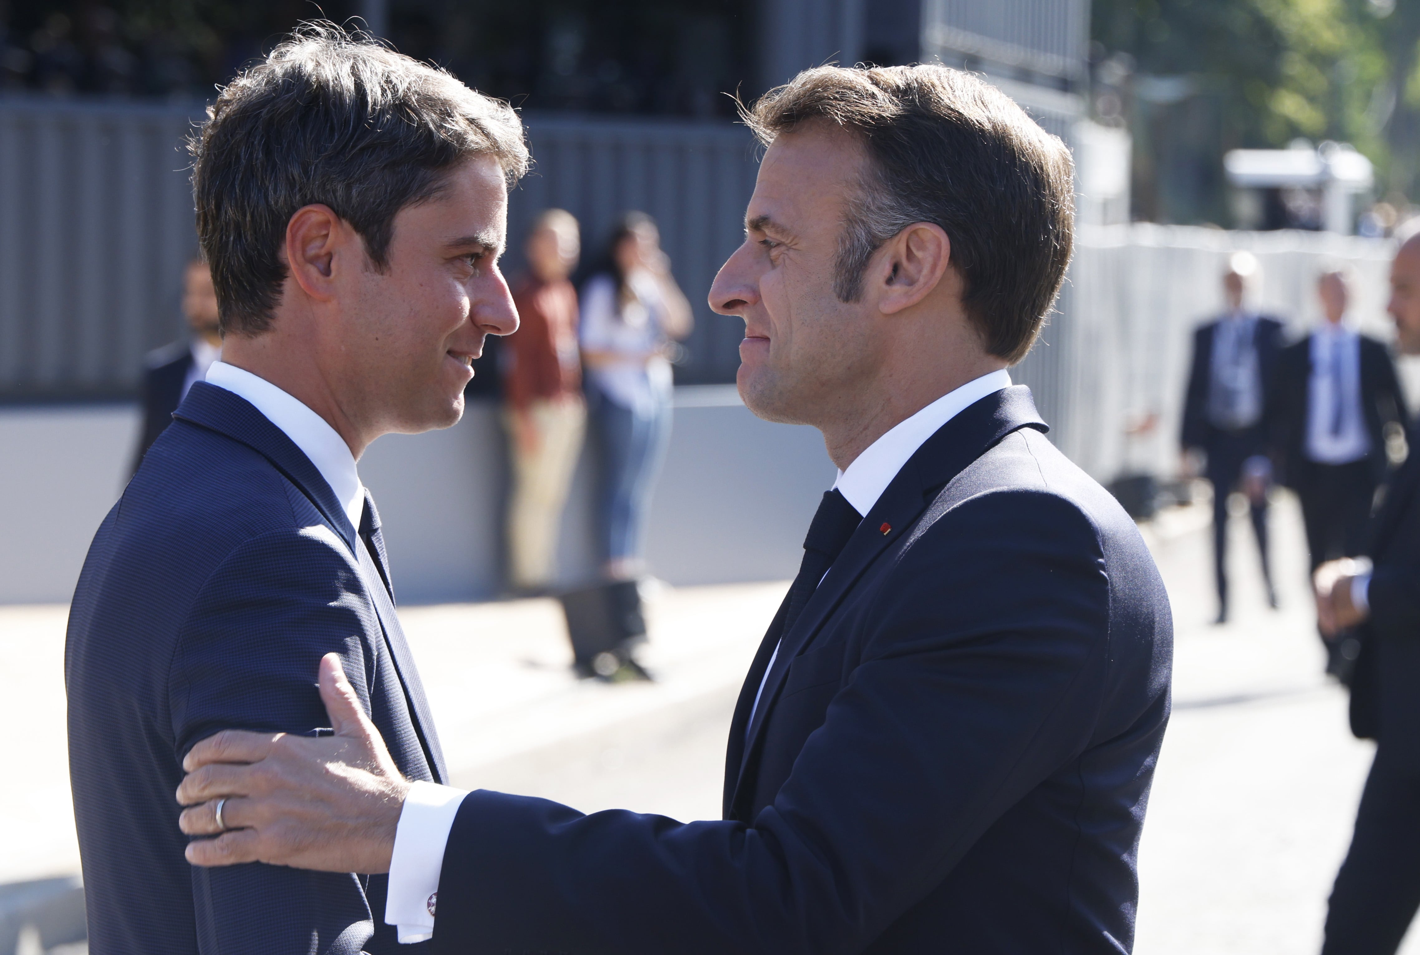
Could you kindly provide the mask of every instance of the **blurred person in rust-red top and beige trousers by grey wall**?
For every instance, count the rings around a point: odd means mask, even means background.
[[[527,272],[513,287],[518,331],[503,342],[503,420],[513,454],[508,565],[514,590],[535,593],[552,580],[557,534],[586,429],[577,345],[581,255],[577,219],[548,209],[527,240]]]

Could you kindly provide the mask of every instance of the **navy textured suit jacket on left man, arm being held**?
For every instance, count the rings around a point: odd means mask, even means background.
[[[410,779],[439,742],[371,555],[315,465],[250,403],[199,382],[89,548],[65,647],[70,775],[94,955],[402,952],[383,876],[195,868],[182,758],[226,728],[328,724],[320,658]],[[378,524],[366,508],[369,539]]]

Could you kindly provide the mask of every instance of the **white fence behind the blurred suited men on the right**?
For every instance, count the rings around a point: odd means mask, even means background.
[[[1027,363],[1052,352],[1055,404],[1045,417],[1056,424],[1061,448],[1096,478],[1177,473],[1193,329],[1221,311],[1223,267],[1234,250],[1257,255],[1262,282],[1254,307],[1287,322],[1291,336],[1321,321],[1319,272],[1345,264],[1356,275],[1352,316],[1363,332],[1392,338],[1387,240],[1149,223],[1082,227],[1062,314]]]

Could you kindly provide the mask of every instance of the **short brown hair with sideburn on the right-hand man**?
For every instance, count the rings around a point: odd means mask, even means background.
[[[862,294],[868,261],[913,223],[951,238],[963,305],[987,352],[1025,358],[1074,241],[1074,163],[1005,94],[940,65],[818,67],[743,111],[764,145],[805,123],[861,138],[870,172],[848,202],[834,291]]]

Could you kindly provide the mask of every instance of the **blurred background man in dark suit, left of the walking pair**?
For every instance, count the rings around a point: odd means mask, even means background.
[[[1218,587],[1218,623],[1228,617],[1228,495],[1238,487],[1248,497],[1252,532],[1262,561],[1267,599],[1277,607],[1267,551],[1267,491],[1271,461],[1267,457],[1264,410],[1277,358],[1282,349],[1282,324],[1258,315],[1248,299],[1258,280],[1251,253],[1233,253],[1223,272],[1227,311],[1193,335],[1193,365],[1183,410],[1183,450],[1201,453],[1204,475],[1213,484],[1213,555]],[[1186,464],[1186,470],[1194,465]]]

